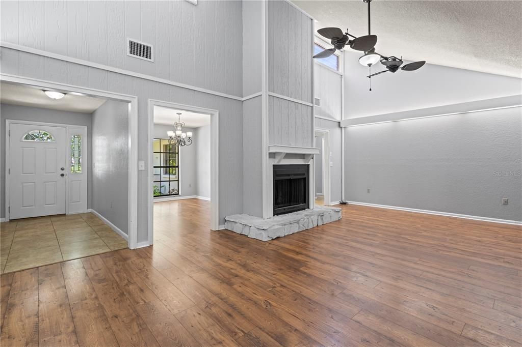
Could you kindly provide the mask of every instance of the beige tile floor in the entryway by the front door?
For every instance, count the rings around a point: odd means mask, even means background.
[[[127,241],[91,213],[0,224],[2,274],[126,247]]]

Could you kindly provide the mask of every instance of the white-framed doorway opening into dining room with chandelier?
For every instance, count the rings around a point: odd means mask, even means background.
[[[149,100],[149,143],[148,243],[176,228],[218,230],[218,111]]]

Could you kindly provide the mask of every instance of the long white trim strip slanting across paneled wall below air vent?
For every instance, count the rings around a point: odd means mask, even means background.
[[[230,98],[230,99],[233,99],[233,100],[243,101],[243,97],[241,97],[241,96],[236,96],[236,95],[230,95],[230,94],[226,94],[226,93],[216,92],[216,91],[205,89],[205,88],[199,88],[199,87],[194,86],[194,85],[178,83],[178,82],[174,82],[174,81],[167,80],[167,79],[164,79],[164,78],[158,78],[158,77],[154,77],[154,76],[150,76],[150,75],[145,75],[145,73],[139,73],[139,72],[134,72],[134,71],[129,71],[129,70],[125,70],[125,69],[120,69],[120,68],[116,68],[116,67],[112,67],[112,66],[108,66],[108,65],[93,63],[92,61],[88,61],[88,60],[83,60],[83,59],[68,57],[68,56],[65,56],[65,55],[62,55],[62,54],[57,54],[57,53],[52,53],[52,52],[48,52],[48,51],[43,51],[42,49],[26,47],[26,46],[22,46],[22,45],[18,45],[18,44],[15,44],[15,43],[10,43],[10,42],[5,42],[5,41],[0,42],[0,46],[5,47],[5,48],[9,48],[9,49],[15,49],[16,51],[20,51],[20,52],[26,52],[26,53],[40,55],[40,56],[43,56],[43,57],[48,57],[48,58],[68,61],[69,63],[89,66],[89,67],[93,67],[93,68],[96,68],[96,69],[111,71],[111,72],[115,72],[115,73],[121,73],[122,75],[137,77],[137,78],[141,78],[141,79],[145,79],[145,80],[149,80],[149,81],[155,81],[155,82],[159,82],[159,83],[163,83],[163,84],[174,85],[174,86],[177,86],[177,87],[180,87],[180,88],[190,89],[190,90],[194,90],[194,91],[201,92],[201,93],[207,93],[207,94],[227,97],[227,98]]]

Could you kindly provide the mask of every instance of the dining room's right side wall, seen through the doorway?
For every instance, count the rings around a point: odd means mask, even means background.
[[[196,128],[196,195],[210,199],[210,125]]]

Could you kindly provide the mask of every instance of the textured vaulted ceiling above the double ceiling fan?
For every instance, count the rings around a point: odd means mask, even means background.
[[[316,19],[316,29],[367,34],[362,0],[293,3]],[[374,0],[371,15],[382,55],[522,77],[521,1]]]

